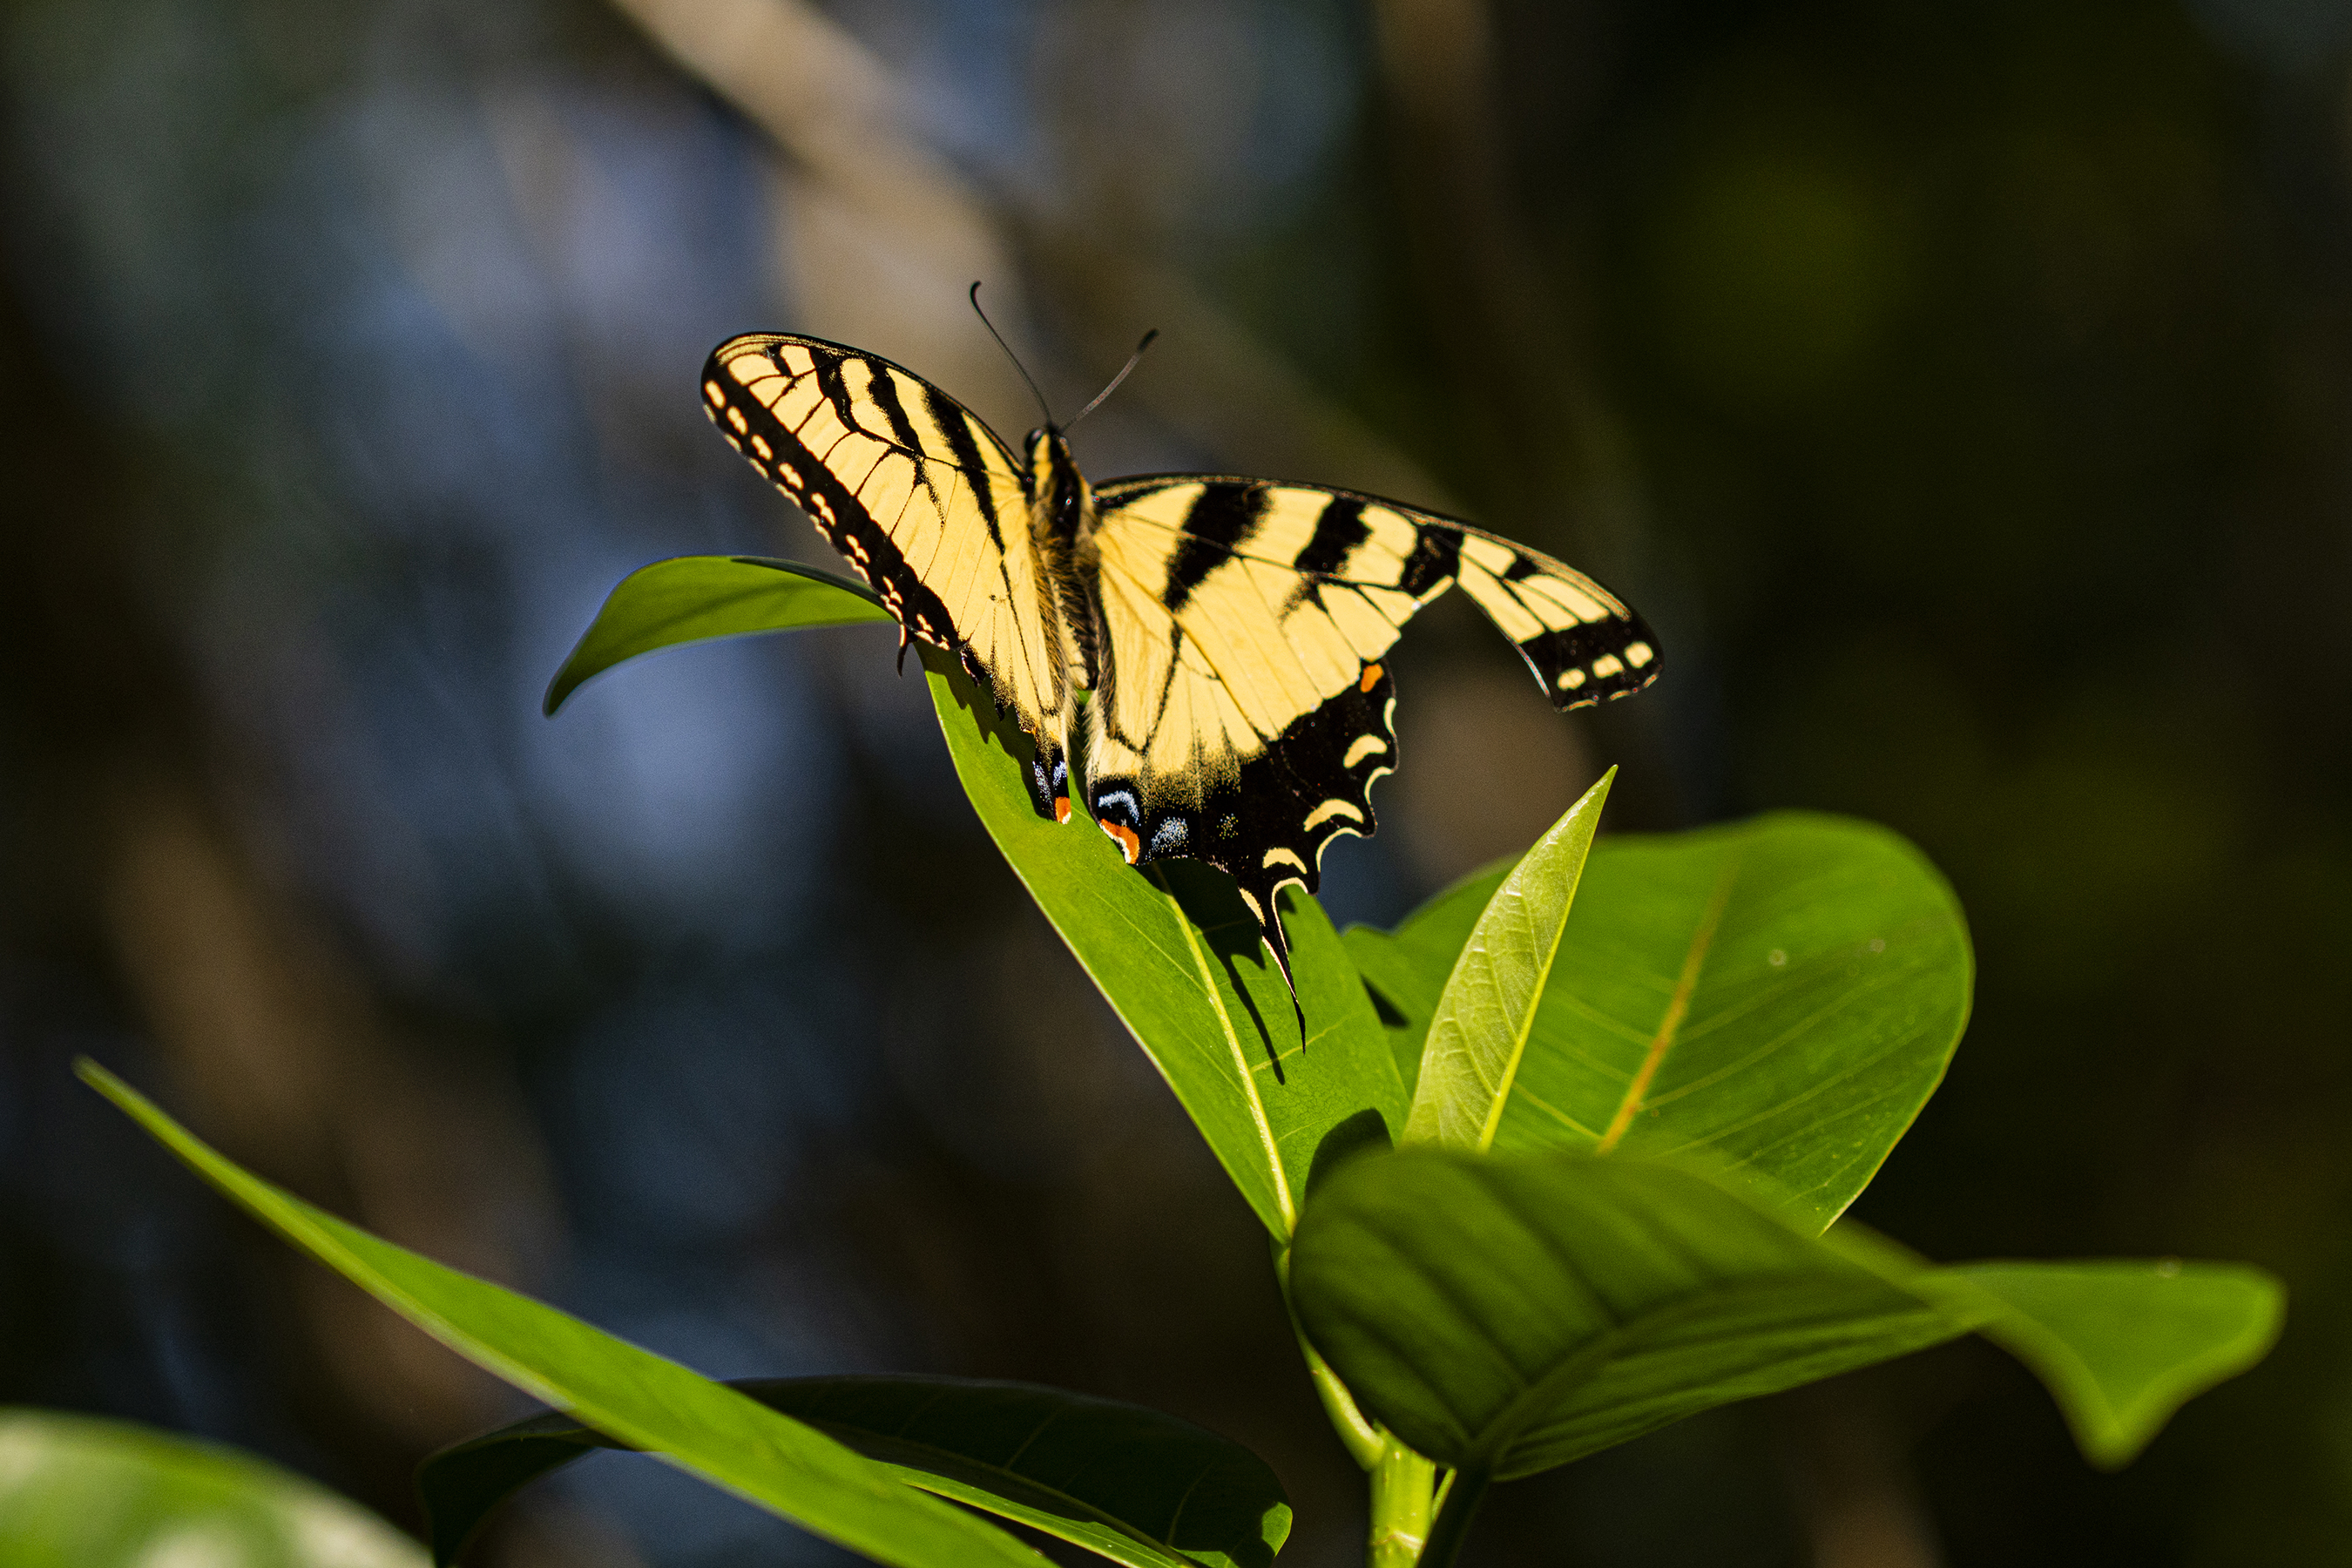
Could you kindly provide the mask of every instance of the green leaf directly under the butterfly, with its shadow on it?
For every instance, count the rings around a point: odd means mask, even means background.
[[[1298,1222],[1305,1182],[1336,1133],[1404,1126],[1404,1084],[1381,1020],[1312,898],[1287,893],[1291,971],[1258,940],[1232,879],[1197,860],[1131,867],[1084,818],[1049,823],[1023,785],[1028,738],[924,649],[938,724],[974,811],[1037,907],[1143,1044],[1225,1175],[1277,1241]]]

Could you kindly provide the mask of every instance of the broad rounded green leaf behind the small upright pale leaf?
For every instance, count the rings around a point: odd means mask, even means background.
[[[1402,1048],[1501,877],[1348,931]],[[1825,1227],[1936,1091],[1971,983],[1952,891],[1884,827],[1776,813],[1602,839],[1494,1147],[1698,1152]]]

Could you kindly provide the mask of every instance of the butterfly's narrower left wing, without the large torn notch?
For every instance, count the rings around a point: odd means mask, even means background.
[[[1021,465],[964,404],[880,355],[755,331],[703,367],[703,411],[898,618],[957,654],[1037,741],[1030,804],[1068,792],[1073,693]]]

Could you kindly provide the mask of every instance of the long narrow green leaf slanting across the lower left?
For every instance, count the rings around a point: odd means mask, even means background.
[[[118,1077],[82,1079],[198,1175],[435,1340],[527,1394],[767,1507],[851,1552],[903,1568],[1044,1559],[1011,1535],[898,1481],[821,1432],[513,1291],[419,1258],[238,1168]]]

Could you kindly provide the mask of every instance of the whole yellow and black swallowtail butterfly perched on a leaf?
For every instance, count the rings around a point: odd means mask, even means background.
[[[1454,517],[1230,475],[1087,484],[1054,423],[1016,456],[922,376],[823,339],[720,343],[703,404],[882,595],[901,658],[946,649],[1011,710],[1040,816],[1084,802],[1131,865],[1230,872],[1284,980],[1275,891],[1312,893],[1322,849],[1374,830],[1397,759],[1383,658],[1416,611],[1461,585],[1557,708],[1658,677],[1606,588]]]

